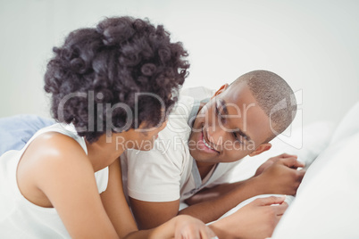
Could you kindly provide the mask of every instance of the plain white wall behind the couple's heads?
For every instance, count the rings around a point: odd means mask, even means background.
[[[359,1],[0,0],[0,117],[48,115],[43,74],[72,29],[129,14],[163,23],[190,54],[185,87],[249,70],[286,78],[303,121],[338,121],[359,99]]]

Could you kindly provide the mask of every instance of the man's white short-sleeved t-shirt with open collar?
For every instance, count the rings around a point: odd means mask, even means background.
[[[127,150],[121,155],[124,189],[131,198],[145,202],[181,202],[204,187],[228,183],[239,163],[219,163],[201,180],[196,162],[189,153],[190,124],[199,102],[181,95],[158,135],[151,151]],[[189,122],[188,122],[189,120]],[[189,123],[189,124],[188,124]],[[127,186],[126,186],[127,185]]]

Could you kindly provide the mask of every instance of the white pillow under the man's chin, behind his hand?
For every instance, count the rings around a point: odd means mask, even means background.
[[[287,152],[298,156],[298,161],[305,162],[308,167],[313,160],[330,143],[330,137],[334,130],[334,123],[318,121],[296,128],[292,131],[290,138],[284,141],[283,138],[274,138],[271,141],[271,149],[254,157],[246,156],[233,171],[230,182],[237,182],[255,175],[256,169],[269,158]]]

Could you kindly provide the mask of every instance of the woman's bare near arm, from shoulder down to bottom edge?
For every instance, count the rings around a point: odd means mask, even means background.
[[[68,136],[50,137],[29,145],[37,146],[31,155],[37,159],[35,185],[54,206],[72,238],[118,238],[86,153]]]

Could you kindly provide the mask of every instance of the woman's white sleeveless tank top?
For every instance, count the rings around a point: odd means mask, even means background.
[[[16,170],[23,152],[40,134],[58,132],[75,139],[88,154],[83,137],[71,125],[54,124],[40,129],[21,151],[5,152],[0,157],[0,238],[70,238],[54,208],[43,208],[22,196],[16,181]],[[98,193],[106,190],[108,168],[95,173]]]

